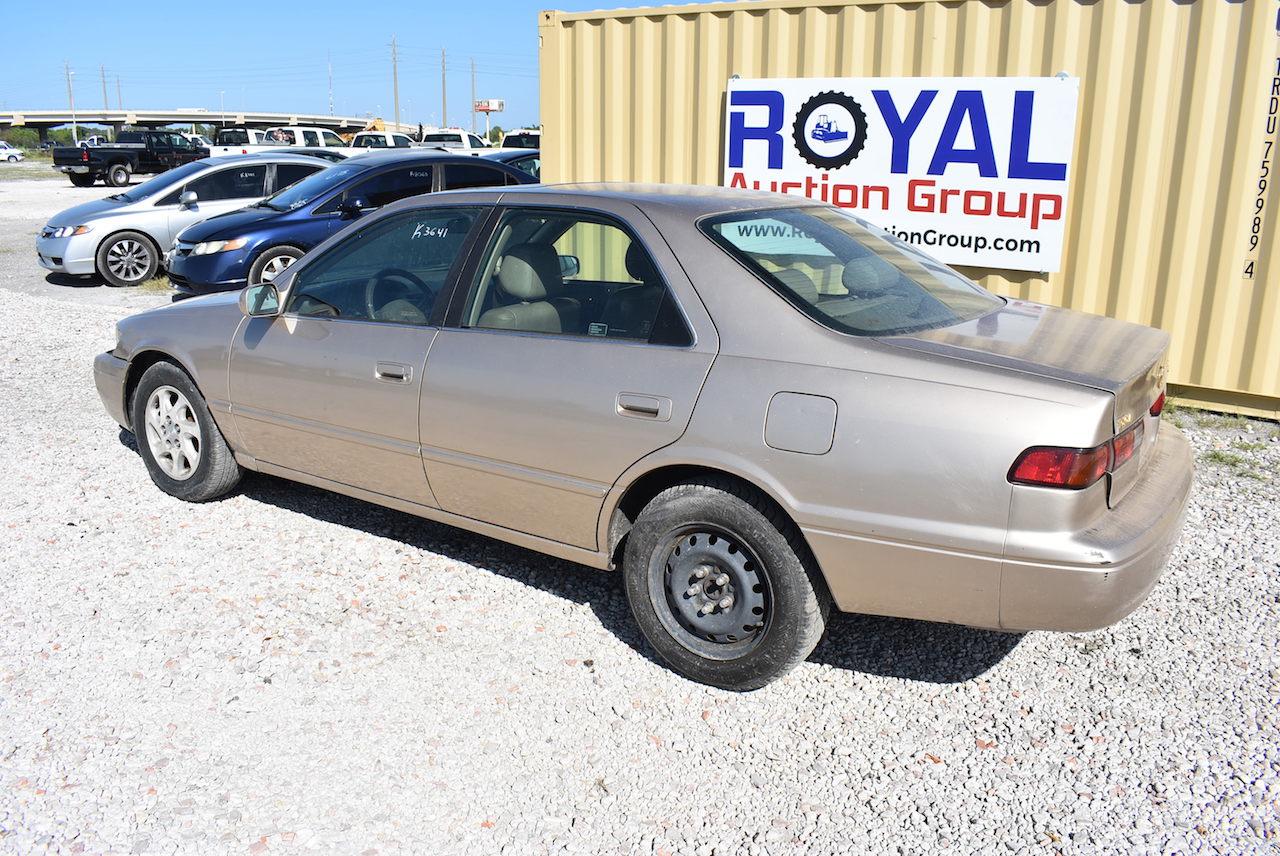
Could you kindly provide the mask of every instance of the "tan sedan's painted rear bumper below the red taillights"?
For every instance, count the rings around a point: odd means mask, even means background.
[[[1015,486],[1005,548],[989,555],[801,531],[845,612],[1009,631],[1097,630],[1146,599],[1181,530],[1192,486],[1190,445],[1165,424],[1147,454],[1124,500],[1075,527],[1056,528],[1041,518],[1033,494],[1023,494],[1048,489]],[[1020,499],[1028,500],[1021,514]]]

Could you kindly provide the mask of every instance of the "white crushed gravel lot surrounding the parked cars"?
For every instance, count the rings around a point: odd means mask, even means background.
[[[110,191],[13,184],[0,851],[1280,848],[1280,426],[1170,411],[1192,505],[1112,628],[838,617],[735,695],[652,659],[616,575],[270,477],[160,493],[91,362],[166,298],[46,279],[36,229]]]

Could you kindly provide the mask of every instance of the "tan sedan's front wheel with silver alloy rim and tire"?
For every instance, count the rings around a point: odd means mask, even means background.
[[[204,395],[174,363],[157,362],[142,374],[129,418],[151,481],[170,496],[204,503],[241,480],[243,471]]]

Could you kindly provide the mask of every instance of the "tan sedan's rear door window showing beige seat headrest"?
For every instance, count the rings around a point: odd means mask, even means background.
[[[600,215],[508,211],[463,326],[686,345],[689,328],[643,244]]]

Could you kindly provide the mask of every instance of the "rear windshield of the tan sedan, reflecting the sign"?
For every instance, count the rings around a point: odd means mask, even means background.
[[[838,333],[899,335],[986,315],[1004,301],[838,209],[709,218],[701,229],[801,312]]]

